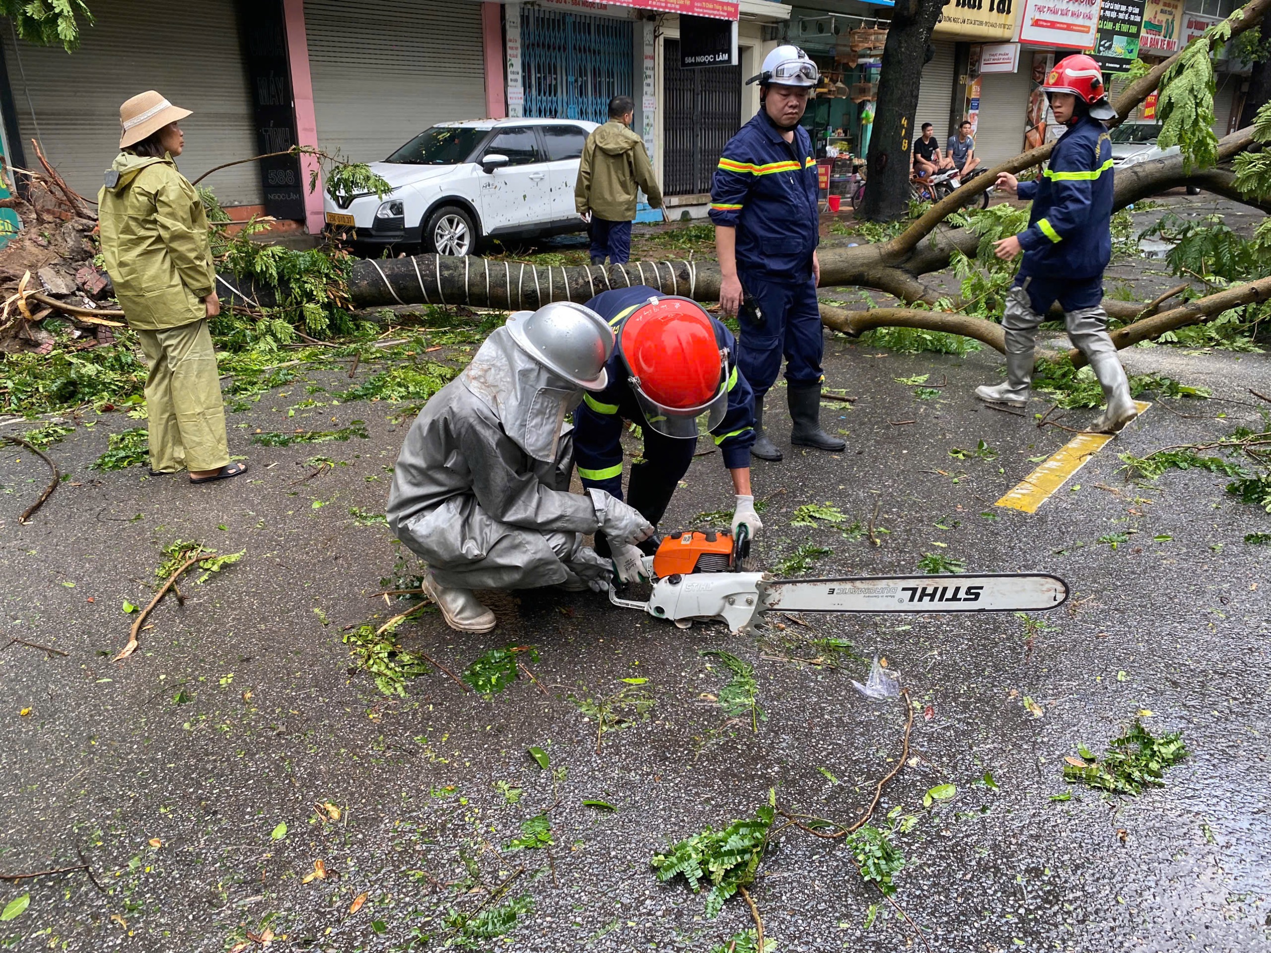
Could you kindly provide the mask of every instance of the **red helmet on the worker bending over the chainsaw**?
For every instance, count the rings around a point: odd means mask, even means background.
[[[698,437],[728,413],[727,351],[697,301],[655,297],[623,321],[618,352],[649,427],[667,437]]]

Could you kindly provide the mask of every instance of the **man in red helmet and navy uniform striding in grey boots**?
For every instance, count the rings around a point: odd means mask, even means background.
[[[1116,433],[1139,413],[1102,306],[1103,269],[1112,257],[1112,142],[1103,121],[1116,112],[1108,105],[1099,65],[1084,55],[1055,64],[1042,89],[1056,122],[1068,131],[1055,144],[1050,168],[1038,182],[998,175],[998,188],[1018,191],[1033,205],[1028,227],[995,249],[1003,259],[1024,255],[1002,316],[1007,381],[976,388],[975,395],[1016,407],[1027,403],[1037,325],[1059,301],[1068,337],[1091,362],[1107,400],[1091,429]]]

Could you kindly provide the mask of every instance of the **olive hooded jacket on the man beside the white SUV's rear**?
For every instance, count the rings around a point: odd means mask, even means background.
[[[582,147],[578,182],[573,187],[574,207],[578,215],[591,210],[605,221],[632,221],[637,186],[644,189],[653,208],[662,206],[662,189],[653,178],[644,140],[620,119],[610,119],[587,136]]]

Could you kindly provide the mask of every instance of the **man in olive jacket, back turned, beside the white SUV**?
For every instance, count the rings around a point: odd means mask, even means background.
[[[662,189],[653,179],[644,140],[630,130],[634,117],[632,98],[614,97],[609,122],[587,136],[582,147],[573,202],[590,222],[592,264],[604,264],[606,255],[613,264],[630,260],[637,186],[653,208],[662,207]]]

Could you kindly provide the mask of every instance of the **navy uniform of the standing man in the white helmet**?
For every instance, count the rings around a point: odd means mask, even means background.
[[[737,277],[752,301],[737,315],[737,363],[756,400],[777,381],[782,353],[792,388],[821,381],[825,342],[812,278],[819,201],[812,140],[802,126],[787,142],[760,109],[723,147],[710,221],[737,230]]]

